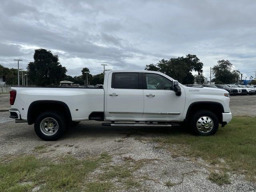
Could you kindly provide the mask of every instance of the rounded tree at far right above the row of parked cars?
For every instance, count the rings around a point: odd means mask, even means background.
[[[229,60],[219,60],[212,68],[216,84],[232,84],[238,82],[240,72],[233,70],[233,64]]]

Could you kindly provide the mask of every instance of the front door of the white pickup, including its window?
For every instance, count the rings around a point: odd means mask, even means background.
[[[185,94],[176,96],[172,81],[155,73],[144,73],[143,118],[151,121],[175,121],[182,117]]]

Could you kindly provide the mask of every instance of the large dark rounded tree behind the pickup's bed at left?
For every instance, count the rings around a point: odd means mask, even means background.
[[[42,48],[35,50],[34,62],[30,62],[27,69],[30,82],[39,86],[58,85],[67,72],[60,64],[58,55]]]

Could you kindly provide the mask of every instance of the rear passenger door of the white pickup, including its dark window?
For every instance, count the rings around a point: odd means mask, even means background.
[[[144,97],[142,73],[113,72],[106,94],[106,120],[142,118]],[[108,81],[110,82],[110,81]]]

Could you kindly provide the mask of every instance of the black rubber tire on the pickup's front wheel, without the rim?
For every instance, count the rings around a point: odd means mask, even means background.
[[[210,117],[210,119],[212,119],[213,126],[209,132],[202,132],[202,131],[198,130],[197,122],[201,117]],[[209,135],[215,134],[219,127],[219,121],[218,121],[217,116],[213,112],[208,111],[208,110],[201,110],[201,111],[196,112],[192,116],[192,118],[190,118],[189,124],[190,124],[190,128],[192,129],[194,134],[202,135],[202,136],[209,136]]]

